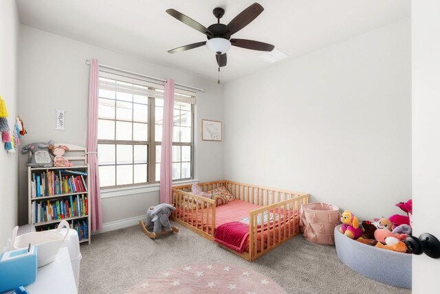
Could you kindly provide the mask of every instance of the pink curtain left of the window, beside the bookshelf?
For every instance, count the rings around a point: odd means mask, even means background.
[[[89,82],[89,122],[87,125],[87,162],[89,163],[89,201],[91,231],[102,229],[101,195],[99,187],[98,157],[98,91],[99,91],[98,60],[92,59]]]

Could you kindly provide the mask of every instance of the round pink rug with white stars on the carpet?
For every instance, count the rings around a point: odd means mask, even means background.
[[[133,286],[137,293],[287,293],[265,275],[229,264],[189,264],[168,269]]]

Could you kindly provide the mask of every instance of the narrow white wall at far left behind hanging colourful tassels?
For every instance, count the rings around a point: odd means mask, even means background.
[[[8,107],[8,122],[14,128],[18,113],[18,46],[19,16],[15,1],[0,1],[0,95]],[[19,156],[9,154],[0,144],[0,251],[6,245],[12,228],[18,223]]]

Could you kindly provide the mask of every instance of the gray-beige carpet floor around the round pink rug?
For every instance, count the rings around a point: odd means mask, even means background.
[[[186,264],[232,264],[267,276],[287,293],[410,293],[376,282],[340,262],[335,247],[296,236],[254,262],[179,227],[156,240],[139,226],[94,235],[81,245],[79,293],[124,293],[160,271]],[[386,261],[384,261],[386,262]],[[380,271],[380,269],[377,269]]]

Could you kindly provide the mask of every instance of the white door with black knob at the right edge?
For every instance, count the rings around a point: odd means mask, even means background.
[[[440,3],[412,1],[412,199],[414,236],[440,240]],[[440,293],[440,259],[412,258],[412,291]]]

